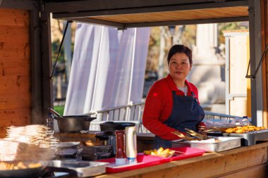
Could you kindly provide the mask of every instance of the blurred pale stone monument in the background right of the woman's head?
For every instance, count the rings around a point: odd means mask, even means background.
[[[200,103],[205,110],[225,113],[225,62],[216,53],[218,34],[217,24],[197,25],[193,68],[188,80],[197,86]]]

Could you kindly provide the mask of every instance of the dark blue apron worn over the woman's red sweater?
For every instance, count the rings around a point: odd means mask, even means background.
[[[178,96],[176,91],[172,91],[173,108],[169,118],[163,122],[165,125],[181,132],[186,132],[184,128],[197,132],[197,126],[204,119],[205,113],[193,91],[191,94],[192,96]],[[171,141],[155,136],[154,148],[160,147],[171,148]]]

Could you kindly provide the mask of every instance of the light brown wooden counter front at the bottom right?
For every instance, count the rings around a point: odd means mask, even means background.
[[[268,177],[268,142],[96,178]]]

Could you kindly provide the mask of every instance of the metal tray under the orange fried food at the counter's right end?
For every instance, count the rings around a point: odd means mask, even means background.
[[[257,141],[268,140],[268,130],[267,129],[262,130],[262,131],[247,132],[244,134],[208,132],[207,135],[240,137],[242,146],[252,146],[252,145],[255,145]]]

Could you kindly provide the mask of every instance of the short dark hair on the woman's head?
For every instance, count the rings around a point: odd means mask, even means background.
[[[186,56],[188,56],[189,58],[189,62],[190,65],[193,64],[193,60],[192,60],[192,50],[190,50],[187,46],[181,45],[181,44],[175,44],[171,47],[171,49],[169,49],[169,55],[168,55],[168,64],[169,61],[171,59],[171,57],[175,54],[175,53],[185,53]]]

